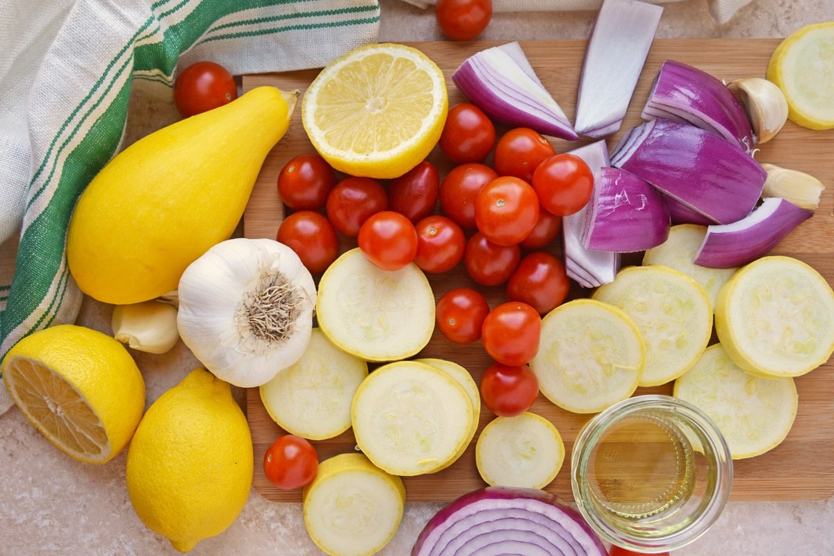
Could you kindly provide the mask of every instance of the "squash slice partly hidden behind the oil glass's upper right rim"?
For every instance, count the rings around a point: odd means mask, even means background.
[[[791,377],[765,379],[741,370],[721,344],[675,381],[674,395],[706,411],[730,447],[732,459],[776,448],[791,430],[799,397]]]

